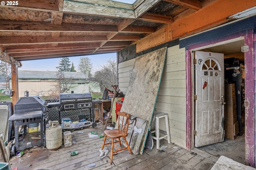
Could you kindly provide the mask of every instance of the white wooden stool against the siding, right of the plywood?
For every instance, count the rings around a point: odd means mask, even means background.
[[[169,132],[169,123],[168,123],[168,114],[167,113],[161,113],[161,112],[154,112],[155,118],[156,118],[156,129],[152,130],[151,133],[156,133],[156,136],[152,136],[154,140],[156,140],[156,149],[159,149],[159,140],[162,138],[167,137],[168,143],[171,142],[170,140],[170,132]],[[165,125],[166,125],[166,132],[159,129],[159,119],[165,118]],[[160,133],[164,134],[164,136],[160,137]]]

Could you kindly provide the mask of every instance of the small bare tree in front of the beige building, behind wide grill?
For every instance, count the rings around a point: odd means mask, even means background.
[[[76,87],[73,77],[65,77],[65,72],[57,72],[55,89],[59,93],[70,93],[70,89]]]

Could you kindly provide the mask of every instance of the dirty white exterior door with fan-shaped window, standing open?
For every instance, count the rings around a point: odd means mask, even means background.
[[[224,54],[195,51],[195,147],[224,141]]]

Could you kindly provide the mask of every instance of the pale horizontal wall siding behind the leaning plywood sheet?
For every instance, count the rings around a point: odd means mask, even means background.
[[[171,142],[183,148],[186,148],[185,57],[185,48],[179,49],[179,45],[167,49],[155,107],[155,111],[168,113]],[[118,86],[124,93],[129,85],[130,70],[133,69],[134,62],[135,59],[131,59],[118,64]],[[160,129],[165,130],[164,119],[160,119]]]

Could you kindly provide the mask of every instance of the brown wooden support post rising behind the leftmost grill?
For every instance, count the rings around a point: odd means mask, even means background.
[[[14,104],[19,99],[19,88],[18,88],[18,66],[12,63],[12,110],[14,111]]]

